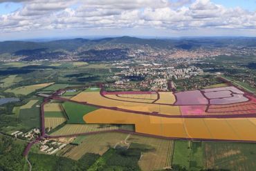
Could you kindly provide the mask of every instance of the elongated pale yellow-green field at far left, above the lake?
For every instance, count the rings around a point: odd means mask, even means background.
[[[31,92],[35,92],[35,90],[45,88],[45,87],[50,86],[52,84],[53,83],[40,83],[40,84],[31,85],[31,86],[22,86],[22,87],[15,88],[15,89],[10,89],[9,88],[5,92],[13,92],[15,94],[27,95],[27,94],[30,94]]]

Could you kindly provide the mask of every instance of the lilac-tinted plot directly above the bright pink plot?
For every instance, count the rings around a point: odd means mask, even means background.
[[[177,92],[175,105],[207,105],[208,100],[203,97],[199,90],[188,92]]]

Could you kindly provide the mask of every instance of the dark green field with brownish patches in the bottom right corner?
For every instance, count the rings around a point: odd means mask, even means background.
[[[255,170],[254,143],[204,142],[205,168],[212,170]]]

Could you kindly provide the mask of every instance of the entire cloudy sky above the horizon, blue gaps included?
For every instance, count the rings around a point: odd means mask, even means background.
[[[256,37],[256,0],[0,0],[0,40]]]

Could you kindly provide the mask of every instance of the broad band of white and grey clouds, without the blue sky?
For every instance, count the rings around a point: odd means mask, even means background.
[[[3,2],[0,0],[0,2]],[[19,1],[20,2],[20,1]],[[255,29],[256,12],[210,0],[34,0],[0,16],[0,33],[86,28]],[[74,8],[75,6],[75,8]]]

